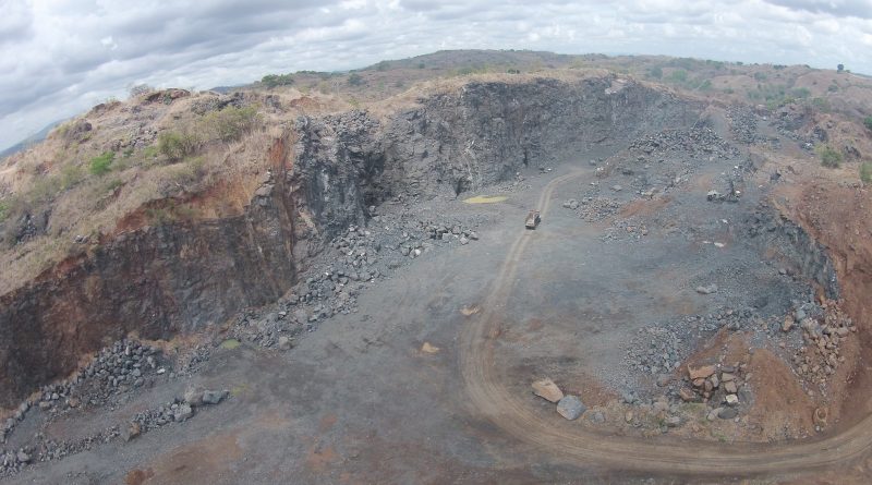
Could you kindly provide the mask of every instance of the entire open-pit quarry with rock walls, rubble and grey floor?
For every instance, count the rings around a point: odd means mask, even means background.
[[[152,201],[7,288],[0,481],[872,476],[872,201],[791,136],[816,121],[605,72],[380,110],[162,96],[87,130],[279,121],[245,183]]]

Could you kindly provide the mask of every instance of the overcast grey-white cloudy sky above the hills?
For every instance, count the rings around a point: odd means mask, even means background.
[[[872,0],[0,0],[0,149],[133,84],[209,88],[469,48],[872,74]]]

